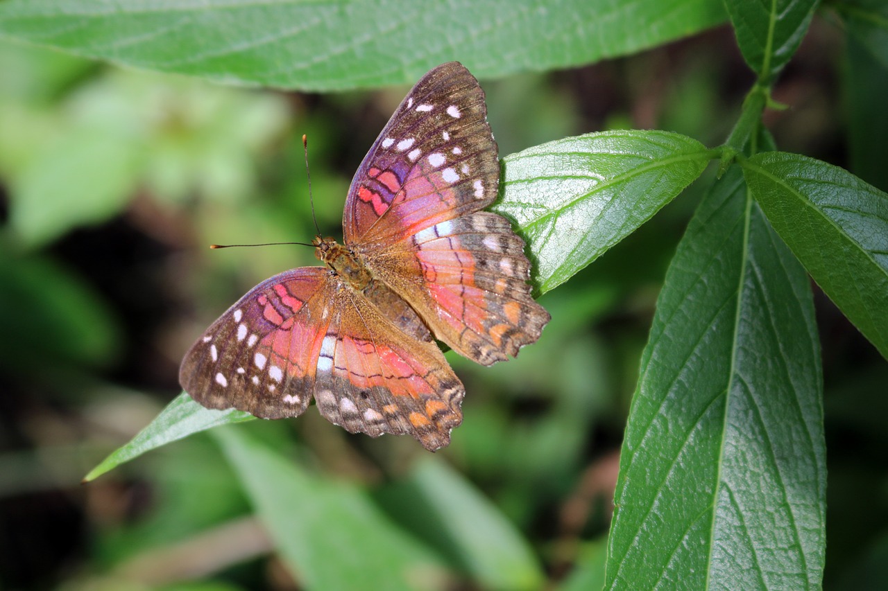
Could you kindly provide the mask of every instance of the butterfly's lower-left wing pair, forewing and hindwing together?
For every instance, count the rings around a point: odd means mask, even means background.
[[[434,451],[462,421],[463,384],[416,313],[392,293],[382,301],[397,314],[321,267],[283,272],[207,329],[179,382],[203,406],[266,419],[302,414],[314,397],[353,433],[407,433]]]

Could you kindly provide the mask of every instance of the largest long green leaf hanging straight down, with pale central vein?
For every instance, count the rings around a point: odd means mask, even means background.
[[[820,588],[819,345],[805,271],[734,167],[702,201],[657,301],[607,588]]]

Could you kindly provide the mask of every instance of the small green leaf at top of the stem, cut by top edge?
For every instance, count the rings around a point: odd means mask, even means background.
[[[725,0],[737,44],[746,63],[765,85],[776,75],[802,43],[818,0]]]

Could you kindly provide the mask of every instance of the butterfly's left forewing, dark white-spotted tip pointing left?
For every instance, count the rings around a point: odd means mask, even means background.
[[[179,383],[207,408],[263,419],[302,414],[329,327],[331,289],[322,267],[282,272],[250,289],[186,353]]]

